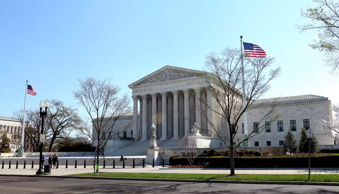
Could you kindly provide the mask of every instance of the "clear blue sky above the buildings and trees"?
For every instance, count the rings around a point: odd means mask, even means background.
[[[323,55],[301,34],[307,0],[64,0],[0,1],[0,115],[24,105],[25,81],[41,99],[56,98],[84,109],[72,95],[77,79],[113,77],[128,84],[164,65],[202,70],[205,55],[245,42],[276,58],[281,76],[265,97],[314,94],[339,103],[338,76],[327,72]]]

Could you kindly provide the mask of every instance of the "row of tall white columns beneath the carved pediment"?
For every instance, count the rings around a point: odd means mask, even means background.
[[[190,113],[189,113],[189,89],[182,90],[184,93],[184,134],[188,135],[190,133]],[[195,91],[195,122],[201,126],[201,115],[200,115],[200,89],[194,89]],[[178,100],[178,90],[171,91],[173,95],[173,138],[178,139],[179,137],[179,100]],[[162,136],[161,140],[168,139],[167,137],[167,92],[162,92],[161,94],[161,114],[162,114]],[[157,119],[157,103],[156,103],[156,93],[150,94],[152,97],[152,124],[156,123]],[[140,110],[140,122],[139,129],[141,129],[141,140],[147,140],[147,130],[148,130],[148,120],[147,120],[147,97],[148,95],[141,95],[139,97],[132,96],[133,98],[133,131],[138,131],[138,100],[139,100],[139,110]],[[212,95],[207,92],[207,106],[212,107]],[[208,120],[212,121],[212,111],[207,108]],[[210,125],[207,125],[207,129],[211,131]]]

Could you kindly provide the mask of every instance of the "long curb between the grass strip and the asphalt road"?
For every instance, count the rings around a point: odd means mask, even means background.
[[[232,184],[277,184],[277,185],[320,185],[339,186],[339,182],[292,182],[292,181],[255,181],[255,180],[201,180],[201,179],[170,179],[170,178],[120,178],[120,177],[80,177],[56,175],[0,175],[4,177],[48,177],[48,178],[80,178],[104,180],[141,180],[165,182],[199,182],[199,183],[232,183]]]

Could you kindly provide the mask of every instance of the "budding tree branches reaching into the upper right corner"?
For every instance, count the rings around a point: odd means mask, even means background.
[[[309,18],[312,23],[297,27],[302,32],[318,32],[319,40],[309,46],[324,52],[327,65],[335,72],[339,67],[339,3],[336,0],[313,1],[317,3],[317,7],[301,10],[301,16]]]

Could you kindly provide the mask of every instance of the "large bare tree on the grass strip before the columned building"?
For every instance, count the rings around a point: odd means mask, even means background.
[[[211,127],[206,130],[216,135],[230,149],[231,176],[234,175],[234,148],[258,135],[265,127],[265,125],[259,126],[260,124],[271,123],[280,116],[279,114],[274,114],[274,108],[277,103],[264,104],[264,102],[258,100],[269,90],[269,82],[276,78],[280,72],[280,68],[268,70],[274,62],[274,58],[245,58],[245,85],[243,85],[242,57],[240,50],[230,48],[224,49],[220,56],[216,55],[216,53],[206,56],[206,90],[211,93],[214,103],[210,106],[201,101],[203,106],[207,108],[206,110],[200,109],[200,113],[206,118],[208,125]],[[243,94],[240,92],[244,87],[247,95],[245,107],[242,101]],[[238,131],[238,123],[241,122],[244,113],[263,105],[267,106],[268,111],[258,121],[258,127],[248,131],[248,136],[244,137],[238,144],[234,142],[233,139]],[[221,134],[216,123],[209,119],[207,113],[209,110],[227,122],[229,137]],[[227,134],[227,132],[225,133]],[[233,143],[235,143],[235,146],[233,146]]]

